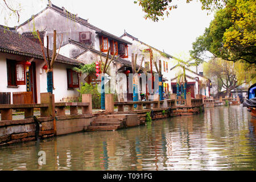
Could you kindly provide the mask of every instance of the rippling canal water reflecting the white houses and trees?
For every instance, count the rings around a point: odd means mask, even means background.
[[[0,147],[0,170],[255,170],[256,121],[242,106],[146,126]],[[46,152],[39,166],[38,152]]]

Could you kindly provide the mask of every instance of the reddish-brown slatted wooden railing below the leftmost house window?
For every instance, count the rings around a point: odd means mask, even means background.
[[[33,104],[32,92],[13,92],[13,104]]]

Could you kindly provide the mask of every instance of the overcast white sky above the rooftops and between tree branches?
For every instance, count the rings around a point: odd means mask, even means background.
[[[31,15],[43,10],[47,0],[10,0],[13,3],[22,3],[19,24],[26,21]],[[134,4],[134,0],[52,0],[54,5],[64,6],[73,14],[89,19],[94,26],[121,36],[126,30],[144,43],[167,52],[173,56],[181,52],[188,53],[192,49],[192,42],[203,34],[205,27],[213,19],[213,13],[201,10],[201,3],[187,4],[185,0],[177,1],[177,9],[172,10],[168,18],[152,22],[143,18],[141,6]],[[15,4],[14,4],[15,6]],[[0,7],[1,10],[1,7]],[[5,24],[1,12],[0,24]],[[8,26],[18,25],[16,19],[9,19]]]

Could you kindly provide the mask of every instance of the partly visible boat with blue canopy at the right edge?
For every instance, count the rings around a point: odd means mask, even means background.
[[[256,118],[256,83],[251,85],[248,89],[247,100],[243,102],[243,107],[247,107],[248,111],[251,113],[251,117]]]

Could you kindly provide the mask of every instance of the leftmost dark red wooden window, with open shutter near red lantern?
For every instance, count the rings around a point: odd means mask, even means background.
[[[12,63],[10,63],[10,62],[12,62]],[[11,73],[10,73],[10,64],[12,64],[11,66],[14,66],[13,75],[11,75]],[[26,61],[16,61],[16,60],[6,59],[6,65],[7,65],[7,86],[26,85]],[[17,65],[23,65],[24,80],[18,80]],[[13,78],[15,80],[15,84],[11,84],[11,80]]]

